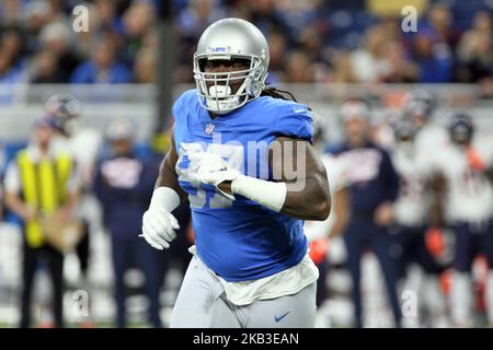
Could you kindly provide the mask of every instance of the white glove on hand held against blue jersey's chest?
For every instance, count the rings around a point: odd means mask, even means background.
[[[188,155],[191,161],[191,174],[202,184],[214,185],[219,192],[230,200],[234,200],[234,196],[221,190],[218,185],[223,182],[232,182],[241,173],[236,168],[231,168],[220,155],[208,152],[197,152]]]

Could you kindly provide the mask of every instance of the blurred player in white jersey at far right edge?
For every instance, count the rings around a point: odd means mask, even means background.
[[[455,231],[455,275],[451,287],[451,314],[456,326],[471,327],[471,266],[484,254],[490,267],[486,305],[493,324],[493,186],[491,138],[477,135],[471,115],[457,113],[448,127],[450,143],[435,161],[438,199],[444,220]]]

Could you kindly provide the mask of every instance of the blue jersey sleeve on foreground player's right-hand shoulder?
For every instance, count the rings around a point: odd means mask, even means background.
[[[303,139],[311,142],[313,139],[313,127],[308,107],[284,101],[276,108],[272,132],[276,136]]]

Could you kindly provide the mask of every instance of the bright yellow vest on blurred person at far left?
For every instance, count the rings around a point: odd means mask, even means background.
[[[18,154],[24,201],[36,212],[49,214],[67,201],[67,182],[70,176],[72,160],[60,154],[55,160],[46,158],[33,162],[27,151]],[[25,222],[27,245],[36,248],[44,244],[38,220]]]

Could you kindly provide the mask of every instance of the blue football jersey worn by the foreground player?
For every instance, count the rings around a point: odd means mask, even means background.
[[[227,281],[245,281],[297,265],[307,253],[302,220],[270,210],[242,196],[230,200],[214,186],[194,182],[188,155],[211,152],[245,175],[272,179],[268,147],[277,136],[311,141],[307,106],[261,96],[211,118],[195,90],[173,106],[176,173],[188,194],[200,259]]]

